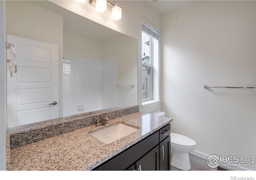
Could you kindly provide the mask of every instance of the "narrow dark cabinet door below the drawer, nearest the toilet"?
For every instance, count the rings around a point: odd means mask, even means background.
[[[170,136],[159,144],[160,170],[171,170],[171,142]]]

